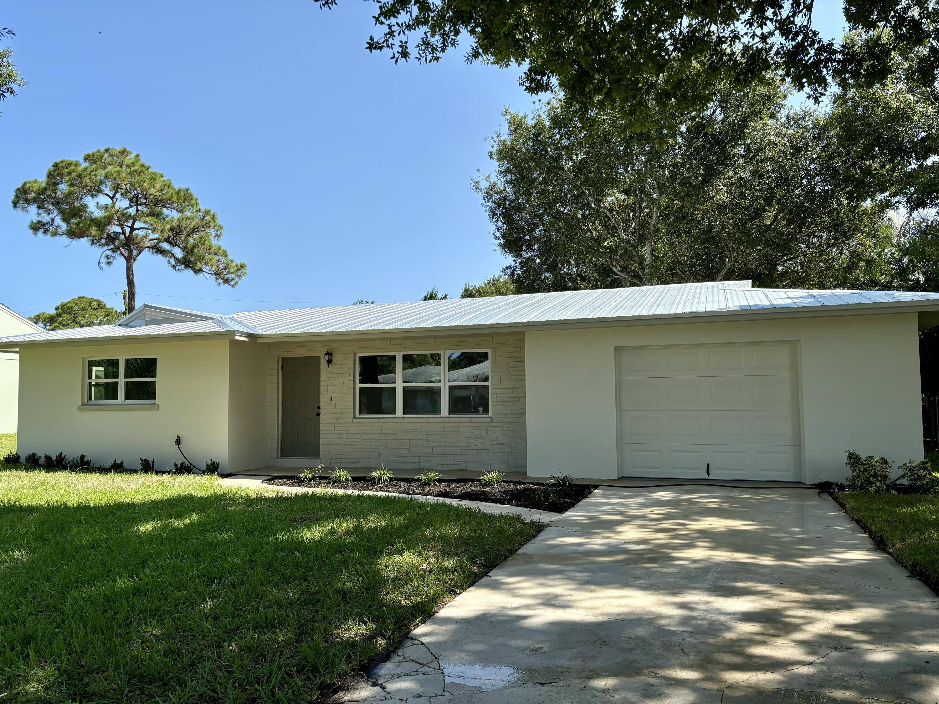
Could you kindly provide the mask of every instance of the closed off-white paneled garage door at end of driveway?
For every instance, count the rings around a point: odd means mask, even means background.
[[[617,352],[620,474],[799,481],[794,344]]]

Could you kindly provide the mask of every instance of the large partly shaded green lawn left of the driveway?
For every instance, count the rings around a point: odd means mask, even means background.
[[[0,471],[0,701],[310,701],[541,529],[214,481]]]

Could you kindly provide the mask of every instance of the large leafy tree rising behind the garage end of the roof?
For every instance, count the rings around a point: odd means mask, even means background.
[[[892,201],[844,177],[828,115],[787,109],[785,97],[764,80],[643,131],[611,110],[585,124],[563,99],[507,111],[496,171],[476,189],[516,290],[870,277],[893,242]]]

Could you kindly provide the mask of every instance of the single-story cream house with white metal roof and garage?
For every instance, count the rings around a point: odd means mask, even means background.
[[[939,294],[750,282],[216,315],[16,334],[20,451],[135,467],[376,467],[817,482],[923,456]],[[176,438],[180,445],[177,448]]]

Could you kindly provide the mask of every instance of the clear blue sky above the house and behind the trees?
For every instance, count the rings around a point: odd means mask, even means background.
[[[374,5],[345,0],[5,4],[23,77],[0,103],[0,301],[23,314],[93,296],[119,308],[123,266],[84,243],[34,237],[14,189],[57,159],[127,146],[224,225],[248,265],[234,289],[162,259],[136,267],[137,302],[232,313],[458,296],[504,259],[470,179],[485,138],[533,98],[517,69],[368,54]],[[817,6],[839,35],[839,3]],[[276,302],[268,302],[276,301]]]

